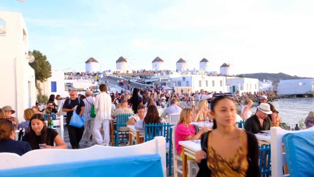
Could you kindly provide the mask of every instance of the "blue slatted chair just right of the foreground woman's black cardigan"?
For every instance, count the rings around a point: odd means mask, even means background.
[[[270,144],[261,145],[259,152],[259,169],[262,172],[262,177],[269,177],[272,173],[272,170],[270,169]]]

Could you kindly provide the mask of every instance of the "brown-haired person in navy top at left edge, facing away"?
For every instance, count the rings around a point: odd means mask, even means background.
[[[10,118],[0,119],[0,153],[15,153],[23,155],[31,151],[30,144],[22,141],[14,141],[15,128]]]

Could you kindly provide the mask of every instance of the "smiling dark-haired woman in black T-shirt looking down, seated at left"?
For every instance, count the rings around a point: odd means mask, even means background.
[[[32,149],[67,149],[67,144],[63,141],[56,130],[46,127],[46,121],[42,114],[34,114],[30,118],[29,132],[24,135],[22,141],[30,143]],[[53,146],[56,143],[56,147]],[[46,144],[40,147],[39,144]]]

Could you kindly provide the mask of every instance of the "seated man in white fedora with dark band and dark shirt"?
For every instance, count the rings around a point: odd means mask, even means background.
[[[267,103],[261,103],[257,107],[258,111],[251,117],[249,117],[246,122],[244,129],[246,131],[252,132],[253,134],[260,133],[261,131],[270,130],[271,121],[267,117],[268,114],[272,114],[270,111],[270,106]]]

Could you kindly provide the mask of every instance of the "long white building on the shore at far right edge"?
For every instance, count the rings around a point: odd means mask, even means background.
[[[277,87],[277,94],[298,95],[314,94],[314,79],[281,80]]]

